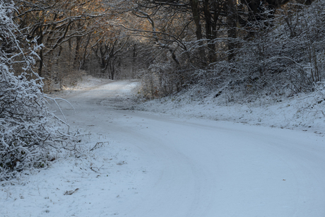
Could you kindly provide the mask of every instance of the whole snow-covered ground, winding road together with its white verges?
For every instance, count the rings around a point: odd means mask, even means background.
[[[0,187],[0,216],[325,216],[325,102],[311,100],[322,93],[140,105],[135,81],[104,83],[52,95],[75,107],[58,100],[85,152]]]

